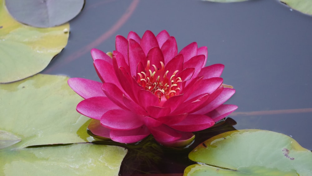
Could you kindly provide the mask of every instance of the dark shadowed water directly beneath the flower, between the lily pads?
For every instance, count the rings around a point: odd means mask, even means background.
[[[158,144],[151,135],[136,144],[121,144],[111,140],[97,140],[93,143],[118,145],[128,149],[119,171],[121,175],[183,173],[187,166],[195,163],[188,159],[190,151],[217,134],[236,130],[233,127],[235,124],[233,119],[227,118],[211,128],[194,132],[193,144],[181,149],[164,147]],[[89,134],[91,134],[90,131]]]

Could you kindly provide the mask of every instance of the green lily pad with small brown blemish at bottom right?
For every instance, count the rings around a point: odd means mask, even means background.
[[[188,157],[199,164],[188,166],[184,175],[312,175],[310,150],[285,134],[266,130],[219,134]]]

